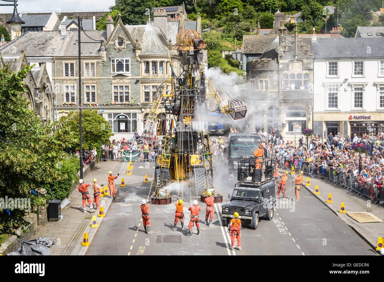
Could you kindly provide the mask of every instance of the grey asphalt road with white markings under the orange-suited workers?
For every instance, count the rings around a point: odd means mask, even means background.
[[[142,173],[151,178],[151,170],[142,169]],[[218,218],[220,204],[215,204],[214,226],[208,228],[204,224],[205,204],[199,202],[202,207],[200,236],[186,238],[188,230],[181,230],[180,223],[177,230],[172,231],[177,189],[172,190],[172,204],[150,206],[153,233],[148,235],[144,233],[139,205],[141,199],[149,195],[150,184],[121,189],[87,255],[374,255],[371,247],[358,234],[305,188],[301,190],[299,203],[291,200],[284,206],[277,206],[274,219],[260,220],[257,230],[243,224],[242,251],[228,249],[230,238]],[[288,187],[287,196],[294,198],[293,190],[289,191]],[[232,184],[228,184],[225,190],[232,188]],[[183,184],[183,191],[184,226],[187,227],[190,196],[194,200],[196,192],[190,191],[186,184]],[[224,198],[227,202],[227,196]]]

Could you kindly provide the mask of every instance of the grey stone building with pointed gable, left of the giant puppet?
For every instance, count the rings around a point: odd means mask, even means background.
[[[136,130],[140,133],[144,129],[156,87],[170,78],[170,63],[177,74],[180,72],[179,57],[172,45],[182,28],[201,34],[200,16],[197,21],[184,21],[183,15],[168,20],[166,12],[158,10],[153,21],[133,26],[124,26],[121,18],[116,23],[109,18],[107,30],[86,31],[95,43],[89,43],[91,39],[81,32],[82,107],[98,110],[110,122],[114,133],[111,139],[131,138]],[[98,51],[100,40],[105,52]],[[4,56],[15,56],[23,50],[36,70],[46,64],[45,74],[53,82],[55,100],[50,113],[55,120],[78,107],[77,42],[78,32],[68,31],[63,25],[60,31],[26,32],[0,47]],[[159,135],[167,124],[162,112],[164,109],[159,109]]]

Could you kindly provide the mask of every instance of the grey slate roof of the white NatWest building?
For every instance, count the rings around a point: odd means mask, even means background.
[[[369,52],[367,52],[369,51]],[[384,38],[323,38],[312,42],[314,58],[383,58]]]

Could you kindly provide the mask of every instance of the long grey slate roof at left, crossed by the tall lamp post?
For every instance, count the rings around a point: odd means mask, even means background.
[[[95,40],[106,40],[105,30],[90,30],[87,35]],[[67,31],[65,36],[60,31],[34,31],[26,32],[15,40],[0,47],[3,56],[17,56],[24,50],[28,56],[78,56],[78,32]],[[81,33],[81,41],[90,41],[84,33]],[[83,56],[99,56],[97,51],[100,44],[82,43],[81,52]]]

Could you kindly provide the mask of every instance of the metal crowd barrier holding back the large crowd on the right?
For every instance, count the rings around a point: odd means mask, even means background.
[[[282,157],[279,162],[279,167],[285,168],[291,171],[292,167],[295,168],[295,172],[302,170],[305,175],[309,177],[322,178],[325,181],[333,181],[336,186],[344,187],[348,191],[357,193],[359,197],[369,198],[371,201],[384,202],[384,185],[378,187],[373,183],[367,183],[365,181],[358,181],[353,175],[347,175],[342,169],[334,170],[328,165],[316,164],[313,162],[296,162],[292,158]],[[376,199],[375,199],[376,198]]]

